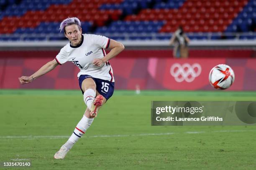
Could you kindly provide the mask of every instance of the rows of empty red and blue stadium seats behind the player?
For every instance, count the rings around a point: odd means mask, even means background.
[[[118,40],[166,40],[179,25],[192,40],[256,39],[256,0],[0,0],[0,40],[64,40],[74,16]]]

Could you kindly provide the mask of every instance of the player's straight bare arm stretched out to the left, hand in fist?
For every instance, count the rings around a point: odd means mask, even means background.
[[[41,67],[39,70],[37,70],[33,75],[31,76],[21,76],[18,79],[20,80],[20,84],[27,84],[35,80],[36,78],[46,74],[47,72],[53,70],[58,65],[58,62],[54,59],[50,62],[47,62],[43,67]]]

